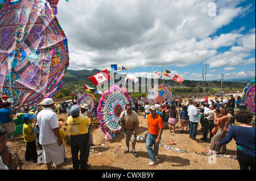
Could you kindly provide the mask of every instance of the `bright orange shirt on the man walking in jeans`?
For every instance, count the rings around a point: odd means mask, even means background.
[[[147,116],[147,122],[148,132],[150,132],[150,134],[158,135],[160,128],[163,128],[163,120],[158,114],[153,118],[151,118],[151,115],[149,114]]]

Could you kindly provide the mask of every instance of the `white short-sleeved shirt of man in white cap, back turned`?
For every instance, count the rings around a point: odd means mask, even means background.
[[[43,108],[37,116],[39,125],[39,142],[41,145],[53,144],[57,141],[57,137],[52,129],[58,128],[58,116],[51,108]]]

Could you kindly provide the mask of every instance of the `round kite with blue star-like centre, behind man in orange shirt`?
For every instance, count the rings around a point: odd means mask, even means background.
[[[155,85],[147,92],[147,102],[154,106],[157,102],[163,103],[166,99],[172,102],[172,90],[164,85]]]

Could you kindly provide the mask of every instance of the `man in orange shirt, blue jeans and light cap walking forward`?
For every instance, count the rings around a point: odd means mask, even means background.
[[[147,116],[148,121],[148,132],[146,138],[147,153],[151,159],[148,165],[152,166],[158,162],[156,157],[158,156],[159,143],[163,132],[163,120],[156,113],[156,107],[150,107],[150,115]],[[154,145],[154,150],[152,149]]]

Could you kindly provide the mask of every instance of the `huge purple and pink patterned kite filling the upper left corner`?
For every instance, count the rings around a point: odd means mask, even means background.
[[[40,103],[61,87],[69,55],[58,2],[0,0],[0,94],[14,103]]]

